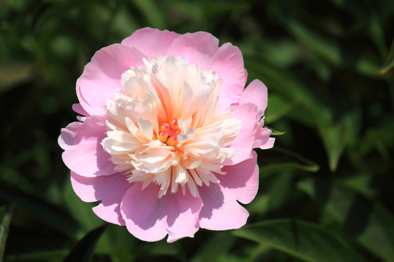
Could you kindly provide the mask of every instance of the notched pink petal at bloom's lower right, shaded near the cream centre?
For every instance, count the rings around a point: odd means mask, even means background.
[[[204,206],[200,213],[200,227],[211,230],[236,229],[245,225],[249,213],[241,203],[251,202],[258,190],[257,154],[253,158],[223,167],[220,183],[199,189]]]

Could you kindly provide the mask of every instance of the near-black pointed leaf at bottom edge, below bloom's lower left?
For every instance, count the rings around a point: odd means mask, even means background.
[[[106,225],[103,225],[87,233],[87,235],[74,246],[63,262],[88,262],[93,255],[97,241],[105,229]]]

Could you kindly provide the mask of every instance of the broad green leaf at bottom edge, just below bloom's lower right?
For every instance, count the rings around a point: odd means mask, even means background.
[[[303,220],[266,220],[246,225],[233,233],[308,262],[365,261],[331,230]]]

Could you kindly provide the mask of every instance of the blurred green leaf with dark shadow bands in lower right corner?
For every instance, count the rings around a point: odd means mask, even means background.
[[[298,188],[352,232],[368,251],[383,261],[394,261],[394,216],[380,203],[370,202],[338,181],[306,178]]]

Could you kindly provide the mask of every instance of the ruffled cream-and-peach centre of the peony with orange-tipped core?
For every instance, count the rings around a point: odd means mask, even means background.
[[[108,132],[102,146],[130,182],[168,191],[219,183],[220,163],[234,156],[227,147],[239,134],[234,109],[219,114],[222,80],[184,57],[154,57],[122,74],[123,89],[106,101]]]

